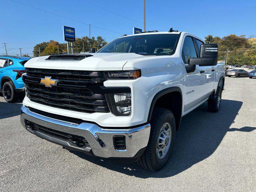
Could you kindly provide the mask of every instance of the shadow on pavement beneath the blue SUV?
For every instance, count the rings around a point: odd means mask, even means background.
[[[20,101],[19,101],[20,102]],[[0,119],[20,115],[22,103],[8,103],[0,101]]]

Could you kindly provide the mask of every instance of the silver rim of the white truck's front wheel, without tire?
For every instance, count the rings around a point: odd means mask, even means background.
[[[163,124],[156,144],[156,154],[159,159],[162,159],[168,153],[172,141],[172,127],[170,123]]]

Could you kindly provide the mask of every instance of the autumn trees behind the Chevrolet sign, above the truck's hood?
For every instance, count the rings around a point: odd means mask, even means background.
[[[76,41],[73,42],[73,52],[89,52],[90,48],[96,48],[96,50],[99,50],[106,44],[107,42],[101,36],[98,36],[97,38],[89,38],[88,36],[76,38]],[[71,48],[69,49],[69,52],[71,53]],[[34,57],[38,57],[39,54],[40,56],[46,56],[64,53],[68,53],[67,43],[59,43],[54,40],[36,44],[33,49]]]

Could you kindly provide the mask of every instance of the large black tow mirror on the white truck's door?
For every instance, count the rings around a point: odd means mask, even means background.
[[[189,65],[214,66],[218,61],[217,44],[201,44],[200,57],[188,59]]]

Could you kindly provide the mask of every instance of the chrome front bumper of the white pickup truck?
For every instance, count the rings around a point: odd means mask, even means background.
[[[133,158],[140,150],[147,146],[150,136],[150,124],[130,129],[107,129],[100,128],[96,124],[90,124],[85,122],[82,122],[81,124],[74,124],[49,118],[31,112],[25,106],[22,106],[21,110],[21,124],[29,132],[35,134],[36,136],[39,136],[40,138],[44,138],[56,144],[66,146],[67,148],[70,148],[72,150],[78,150],[86,153],[90,153],[92,151],[93,155],[102,158]],[[25,125],[25,120],[53,130],[82,136],[86,138],[86,140],[90,144],[90,147],[78,147],[75,144],[72,144],[71,142],[68,142],[66,140],[44,134],[43,132],[32,130]],[[113,136],[125,136],[125,150],[116,150],[114,148]],[[102,142],[104,143],[103,147]]]

